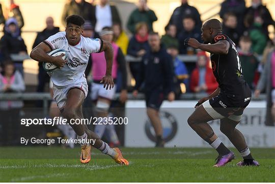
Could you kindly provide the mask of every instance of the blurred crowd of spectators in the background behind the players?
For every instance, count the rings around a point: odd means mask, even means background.
[[[121,16],[125,15],[121,15],[116,5],[110,4],[108,0],[100,0],[96,5],[84,0],[71,0],[64,6],[62,14],[64,26],[65,19],[69,15],[77,14],[84,17],[86,22],[83,36],[85,37],[102,38],[104,30],[110,31],[108,32],[112,34],[110,41],[119,48],[118,63],[125,63],[121,61],[125,59],[127,61],[126,56],[134,58],[134,61],[126,62],[128,65],[126,69],[129,69],[127,73],[131,74],[131,85],[126,87],[128,91],[133,89],[135,81],[142,72],[139,61],[152,52],[151,45],[148,43],[148,35],[154,31],[153,22],[161,21],[147,3],[146,0],[138,1],[136,8],[128,16],[127,30],[123,30],[121,20]],[[239,51],[245,81],[255,91],[256,96],[264,91],[271,96],[271,91],[275,88],[273,67],[275,65],[273,64],[275,63],[275,38],[269,38],[267,28],[269,25],[275,27],[275,23],[269,10],[261,0],[252,0],[251,7],[246,7],[244,0],[225,0],[221,4],[219,16],[223,20],[223,33],[233,40]],[[47,17],[45,22],[46,28],[37,34],[33,48],[60,31],[54,26],[52,17]],[[14,1],[10,1],[8,17],[4,17],[0,4],[0,24],[5,25],[4,36],[0,40],[0,92],[21,92],[25,89],[23,61],[14,60],[11,55],[25,55],[27,50],[20,36],[24,19],[19,6]],[[196,7],[188,5],[187,0],[181,0],[181,5],[173,11],[168,24],[163,28],[165,34],[160,36],[161,50],[171,56],[169,62],[173,65],[176,99],[185,92],[210,94],[218,86],[212,73],[209,55],[204,51],[184,45],[184,39],[188,37],[202,42],[201,27],[200,12]],[[181,56],[197,56],[197,62],[183,61]],[[125,90],[125,74],[121,69],[125,67],[117,68],[116,91],[120,92]],[[86,74],[91,75],[91,73]],[[273,83],[266,85],[269,79]],[[39,63],[38,81],[37,92],[45,91],[49,76],[41,63]],[[14,85],[21,85],[21,87],[14,88]],[[269,101],[272,101],[271,98]],[[0,102],[0,108],[3,108],[2,104],[3,102]],[[7,106],[16,109],[20,107],[20,104],[7,103]],[[271,107],[271,104],[269,106]]]

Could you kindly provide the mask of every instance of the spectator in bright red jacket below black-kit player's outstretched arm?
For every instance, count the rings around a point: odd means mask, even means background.
[[[197,54],[197,68],[195,68],[190,78],[190,89],[195,93],[213,93],[218,83],[210,68],[209,58],[205,51],[200,51]]]

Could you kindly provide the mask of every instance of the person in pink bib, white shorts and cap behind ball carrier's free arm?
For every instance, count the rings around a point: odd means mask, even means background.
[[[121,48],[113,42],[114,32],[111,27],[104,27],[102,31],[99,33],[100,38],[102,40],[106,40],[111,42],[114,50],[114,60],[113,60],[113,69],[112,69],[112,77],[114,78],[115,86],[111,90],[105,90],[103,88],[103,84],[100,83],[101,77],[105,75],[106,72],[106,62],[104,57],[104,52],[100,53],[92,53],[91,54],[91,62],[88,63],[85,74],[86,76],[92,70],[93,73],[93,83],[91,85],[91,99],[96,102],[95,114],[97,117],[102,117],[102,124],[97,124],[95,126],[95,133],[101,138],[105,132],[105,129],[108,130],[108,137],[110,138],[110,142],[113,145],[119,145],[119,139],[115,131],[114,124],[109,124],[105,122],[104,117],[108,118],[109,107],[111,102],[116,94],[117,88],[117,78],[118,71],[121,72],[122,75],[122,87],[120,93],[120,102],[125,103],[127,100],[127,72],[126,72],[126,62],[124,59],[124,55],[122,53]],[[105,118],[106,119],[106,118]]]

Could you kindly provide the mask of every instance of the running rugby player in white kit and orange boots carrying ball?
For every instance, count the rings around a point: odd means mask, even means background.
[[[41,42],[31,52],[31,58],[39,62],[52,63],[59,67],[49,73],[53,83],[53,97],[57,101],[58,108],[67,122],[83,118],[82,102],[87,96],[88,85],[85,78],[85,69],[88,58],[92,52],[105,52],[106,74],[102,76],[104,88],[112,89],[114,81],[112,77],[113,48],[111,43],[101,39],[85,38],[83,33],[84,19],[78,15],[66,18],[65,32],[59,32]],[[52,57],[47,52],[54,49],[64,49],[68,52],[67,60],[61,56]],[[70,124],[74,129],[77,139],[81,141],[80,162],[89,163],[91,160],[91,146],[108,154],[117,163],[128,165],[119,148],[110,148],[99,137],[88,129],[86,124]],[[88,140],[95,140],[91,145]]]

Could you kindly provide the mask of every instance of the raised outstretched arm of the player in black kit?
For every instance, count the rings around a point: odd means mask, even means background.
[[[203,44],[198,42],[195,38],[187,38],[184,40],[184,44],[188,44],[193,48],[199,48],[201,50],[214,53],[226,55],[229,50],[229,42],[227,40],[221,40],[214,44]]]

